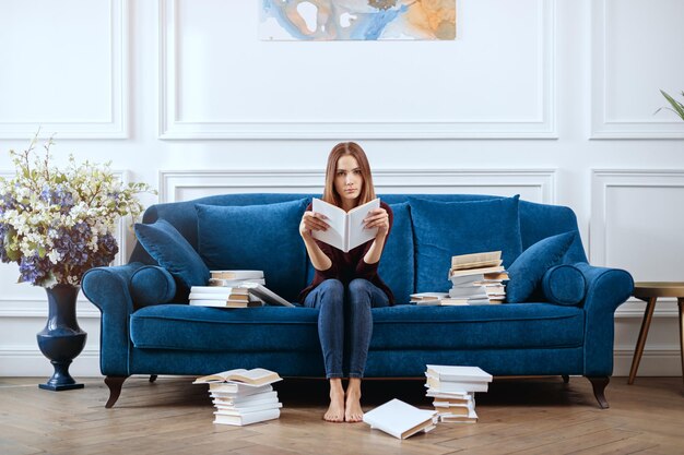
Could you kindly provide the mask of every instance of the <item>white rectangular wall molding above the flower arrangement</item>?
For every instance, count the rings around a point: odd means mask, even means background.
[[[102,1],[102,0],[101,0]],[[36,115],[35,121],[0,121],[0,139],[28,139],[40,128],[40,136],[58,139],[125,139],[129,130],[129,0],[107,0],[109,9],[110,81],[107,116],[103,119],[54,119]],[[87,21],[86,16],[82,16]],[[104,32],[104,31],[103,31]],[[78,68],[74,68],[74,71]],[[49,76],[49,70],[44,71]]]

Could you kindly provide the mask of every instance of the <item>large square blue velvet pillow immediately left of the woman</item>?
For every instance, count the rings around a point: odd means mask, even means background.
[[[295,301],[306,286],[306,249],[299,223],[308,202],[196,204],[200,255],[210,270],[263,271],[269,289]]]

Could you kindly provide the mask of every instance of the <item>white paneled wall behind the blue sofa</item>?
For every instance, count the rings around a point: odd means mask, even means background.
[[[318,191],[357,140],[381,191],[568,205],[593,264],[683,279],[684,122],[652,115],[684,89],[681,0],[458,0],[456,41],[376,43],[260,41],[256,3],[0,0],[0,149],[43,125],[59,161],[111,159],[170,201]],[[45,292],[16,276],[0,265],[0,375],[46,375]],[[616,374],[642,308],[617,311]],[[75,375],[99,374],[98,315],[80,301]],[[640,374],[681,374],[673,301]]]

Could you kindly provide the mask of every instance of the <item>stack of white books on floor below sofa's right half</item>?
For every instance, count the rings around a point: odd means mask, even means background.
[[[479,367],[428,364],[427,396],[440,422],[475,423],[475,392],[486,392],[492,375]]]

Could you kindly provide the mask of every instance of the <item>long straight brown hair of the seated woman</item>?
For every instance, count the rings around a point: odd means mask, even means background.
[[[334,176],[338,170],[338,161],[344,155],[351,155],[356,159],[361,177],[363,178],[363,187],[358,195],[358,205],[370,202],[375,199],[375,187],[373,185],[373,176],[370,175],[370,165],[366,153],[355,142],[341,142],[330,151],[328,155],[328,166],[326,168],[326,188],[323,189],[323,201],[342,206],[342,196],[334,189]]]

